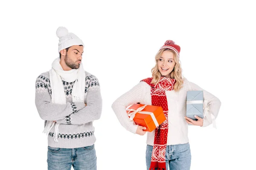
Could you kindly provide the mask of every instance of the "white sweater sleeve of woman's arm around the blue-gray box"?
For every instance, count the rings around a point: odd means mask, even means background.
[[[221,107],[221,101],[217,97],[215,97],[214,95],[210,94],[208,91],[205,91],[202,88],[200,88],[198,85],[196,85],[192,82],[189,82],[189,85],[190,85],[192,91],[203,91],[204,100],[208,101],[209,112],[215,118],[217,118],[218,112],[219,112],[220,107]],[[203,120],[204,120],[203,127],[206,127],[206,126],[210,125],[211,122],[212,122],[210,120],[207,120],[207,117],[204,117]]]

